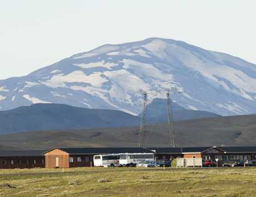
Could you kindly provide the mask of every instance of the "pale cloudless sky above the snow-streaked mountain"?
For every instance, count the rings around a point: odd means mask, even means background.
[[[0,1],[0,79],[102,44],[171,38],[256,64],[254,0]]]

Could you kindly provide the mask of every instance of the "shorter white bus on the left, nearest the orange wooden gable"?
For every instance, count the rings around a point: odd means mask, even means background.
[[[119,155],[95,155],[93,156],[93,163],[95,167],[116,167],[119,166]]]

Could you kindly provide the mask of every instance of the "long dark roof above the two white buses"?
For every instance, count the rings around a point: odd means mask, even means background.
[[[145,148],[59,148],[68,154],[115,154],[115,153],[152,153]]]

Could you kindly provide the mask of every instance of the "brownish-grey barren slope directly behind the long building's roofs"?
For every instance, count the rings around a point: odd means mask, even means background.
[[[183,120],[174,123],[179,147],[249,146],[256,143],[256,115]],[[167,147],[168,125],[146,127],[146,147]],[[137,147],[139,127],[27,132],[1,135],[0,145],[19,149]]]

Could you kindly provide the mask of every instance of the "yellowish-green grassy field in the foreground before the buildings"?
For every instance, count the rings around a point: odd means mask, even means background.
[[[0,196],[255,196],[255,175],[256,168],[0,170]]]

